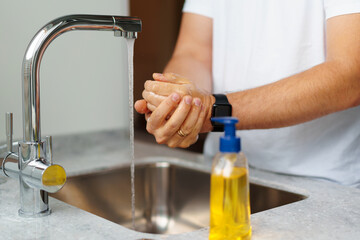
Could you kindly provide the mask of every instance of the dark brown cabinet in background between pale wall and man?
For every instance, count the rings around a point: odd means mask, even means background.
[[[142,32],[135,41],[134,99],[141,99],[144,82],[152,73],[162,72],[174,50],[180,28],[184,0],[130,0],[130,15],[141,18]],[[146,132],[144,116],[135,112],[135,129]],[[155,139],[148,136],[148,141]],[[188,150],[201,152],[204,136]]]

